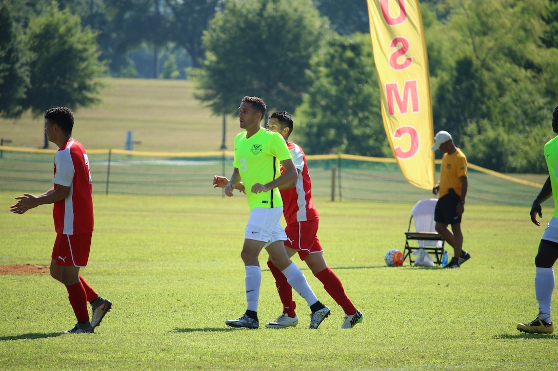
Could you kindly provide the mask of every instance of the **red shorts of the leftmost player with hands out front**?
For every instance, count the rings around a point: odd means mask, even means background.
[[[54,247],[52,247],[52,258],[56,265],[85,267],[89,259],[91,248],[90,233],[79,235],[56,235]]]

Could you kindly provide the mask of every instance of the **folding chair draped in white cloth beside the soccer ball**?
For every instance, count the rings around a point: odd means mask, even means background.
[[[412,265],[415,260],[412,252],[424,248],[428,253],[434,255],[434,263],[441,264],[444,255],[444,238],[436,232],[434,221],[434,209],[436,198],[421,199],[415,204],[411,211],[409,226],[405,232],[405,250],[403,250],[403,261],[408,257]],[[411,232],[411,223],[415,221],[415,232]]]

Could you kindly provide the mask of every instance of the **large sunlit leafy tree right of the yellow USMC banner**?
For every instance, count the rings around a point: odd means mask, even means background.
[[[453,60],[440,65],[434,128],[455,133],[472,163],[530,172],[537,160],[521,143],[541,138],[547,105],[558,97],[551,72],[558,69],[557,50],[541,42],[549,27],[548,2],[448,3],[453,8],[448,23],[437,29],[438,40],[451,39],[459,47],[453,48]]]

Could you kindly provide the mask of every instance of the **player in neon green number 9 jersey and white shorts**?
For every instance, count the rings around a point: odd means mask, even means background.
[[[265,248],[273,264],[310,306],[310,328],[317,329],[321,321],[329,316],[330,310],[318,300],[283,245],[287,236],[280,222],[283,202],[278,187],[292,182],[298,173],[282,136],[261,128],[260,122],[266,110],[266,103],[254,96],[243,97],[238,108],[240,128],[246,133],[239,133],[234,139],[234,170],[225,186],[225,194],[233,196],[234,188],[242,181],[250,206],[240,253],[246,270],[247,310],[240,318],[226,320],[225,324],[235,328],[259,327],[257,310],[262,270],[258,255]],[[282,174],[281,167],[285,169]]]

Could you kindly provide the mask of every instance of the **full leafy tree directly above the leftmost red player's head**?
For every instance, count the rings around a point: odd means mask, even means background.
[[[31,87],[20,101],[24,110],[38,116],[53,106],[77,109],[99,101],[98,78],[105,66],[98,61],[95,36],[90,28],[81,28],[78,16],[59,11],[56,2],[31,19],[26,40],[35,58],[30,64]]]

